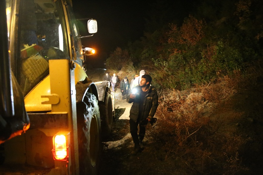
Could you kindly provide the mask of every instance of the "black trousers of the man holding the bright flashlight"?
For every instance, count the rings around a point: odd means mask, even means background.
[[[139,135],[138,135],[138,125],[139,125]],[[134,122],[130,119],[130,132],[132,135],[132,140],[135,145],[138,145],[141,142],[145,135],[145,126],[141,126],[139,122]],[[139,136],[139,137],[138,137]]]

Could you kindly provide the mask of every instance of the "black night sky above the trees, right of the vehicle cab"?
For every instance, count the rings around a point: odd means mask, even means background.
[[[82,39],[85,47],[97,52],[89,56],[94,67],[104,65],[110,52],[123,48],[129,41],[143,36],[144,17],[152,1],[76,1],[73,10],[77,19],[93,18],[98,22],[98,32],[93,37]],[[99,64],[98,64],[99,63]]]

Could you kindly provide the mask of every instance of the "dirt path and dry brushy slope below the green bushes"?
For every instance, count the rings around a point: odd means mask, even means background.
[[[262,82],[262,78],[257,78],[242,87],[231,87],[230,83],[224,85],[223,93],[213,97],[216,85],[160,95],[157,125],[148,124],[145,149],[136,156],[130,154],[133,149],[127,113],[130,106],[117,97],[120,105],[112,135],[103,142],[99,174],[263,172]],[[118,90],[116,96],[120,95]]]

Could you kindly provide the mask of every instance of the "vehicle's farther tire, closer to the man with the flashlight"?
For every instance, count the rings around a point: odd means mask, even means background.
[[[99,102],[99,112],[101,116],[102,139],[105,140],[112,132],[112,98],[111,92],[107,88],[104,96],[104,101]]]

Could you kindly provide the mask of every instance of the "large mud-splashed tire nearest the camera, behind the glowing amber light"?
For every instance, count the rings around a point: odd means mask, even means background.
[[[76,104],[80,174],[98,174],[102,152],[101,121],[96,96],[87,93]]]

